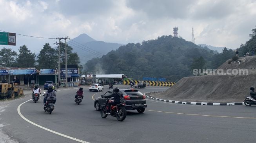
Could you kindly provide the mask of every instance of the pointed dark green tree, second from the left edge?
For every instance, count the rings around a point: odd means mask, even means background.
[[[32,68],[35,66],[35,53],[31,53],[30,50],[27,49],[26,45],[20,46],[19,48],[20,54],[16,59],[16,67],[19,68]]]

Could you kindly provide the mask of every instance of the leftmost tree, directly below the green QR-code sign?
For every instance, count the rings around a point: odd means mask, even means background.
[[[0,50],[0,66],[1,67],[12,67],[15,63],[15,59],[17,58],[18,54],[11,49],[2,48]]]

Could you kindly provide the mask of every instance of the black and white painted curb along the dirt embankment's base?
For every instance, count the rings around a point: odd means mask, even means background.
[[[154,91],[154,92],[162,92],[162,91]],[[150,93],[150,92],[148,92]],[[147,93],[144,93],[145,95]],[[170,102],[176,104],[188,104],[188,105],[220,105],[220,106],[228,106],[228,105],[245,105],[243,102],[228,102],[228,103],[208,103],[208,102],[183,102],[183,101],[173,101],[173,100],[165,100],[160,98],[154,98],[146,95],[146,98],[163,101],[163,102]]]

